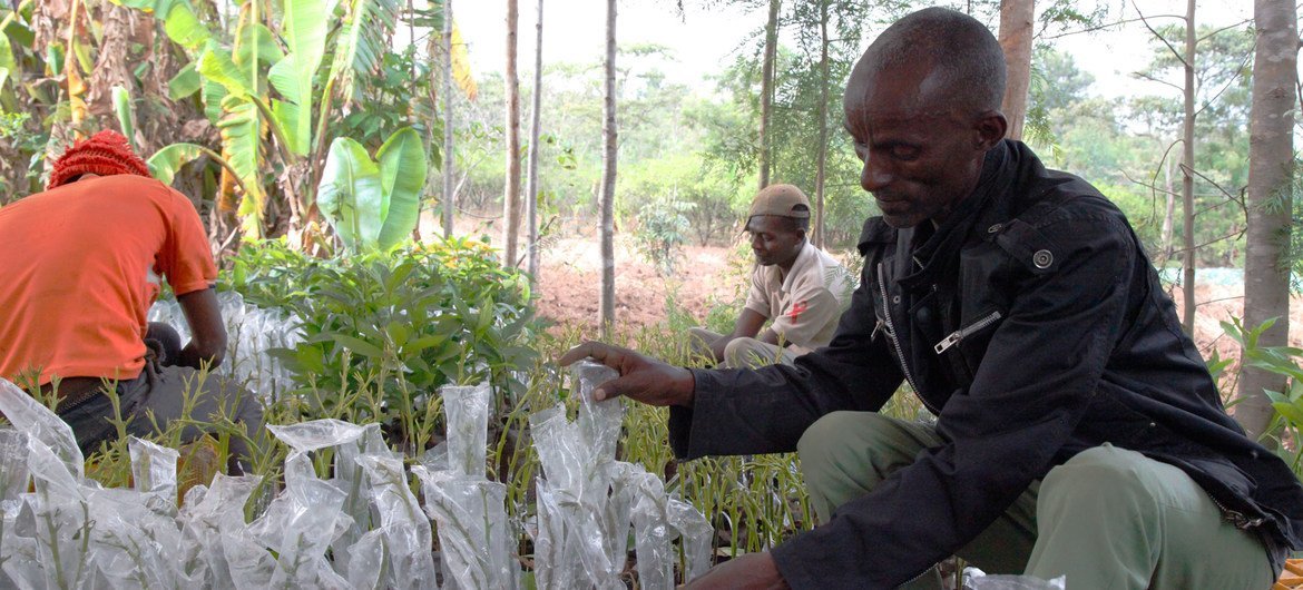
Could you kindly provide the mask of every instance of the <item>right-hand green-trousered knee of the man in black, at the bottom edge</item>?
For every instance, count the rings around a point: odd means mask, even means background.
[[[1181,469],[1109,444],[1045,475],[1027,573],[1068,587],[1268,587],[1261,539]]]

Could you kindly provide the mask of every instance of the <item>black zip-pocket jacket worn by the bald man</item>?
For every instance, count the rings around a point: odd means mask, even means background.
[[[946,444],[773,551],[794,587],[894,587],[954,554],[1033,481],[1111,443],[1181,468],[1239,526],[1299,547],[1303,487],[1226,415],[1122,212],[1006,141],[936,231],[864,224],[833,343],[796,366],[694,370],[675,455],[790,452],[834,410],[908,382]]]

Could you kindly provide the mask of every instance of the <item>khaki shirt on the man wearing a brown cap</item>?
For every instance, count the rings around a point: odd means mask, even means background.
[[[751,272],[747,309],[770,319],[779,341],[804,354],[833,341],[837,322],[851,302],[850,272],[827,253],[805,242],[787,277],[778,264]]]

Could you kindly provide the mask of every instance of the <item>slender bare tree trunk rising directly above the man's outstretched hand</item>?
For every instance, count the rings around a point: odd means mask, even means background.
[[[606,0],[606,79],[602,102],[602,339],[610,340],[615,326],[615,0]]]

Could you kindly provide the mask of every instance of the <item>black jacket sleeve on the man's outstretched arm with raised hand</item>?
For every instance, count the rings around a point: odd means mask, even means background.
[[[833,343],[797,357],[795,366],[694,369],[692,408],[670,408],[675,456],[790,452],[829,412],[877,410],[903,376],[876,326],[872,283],[864,276]]]

